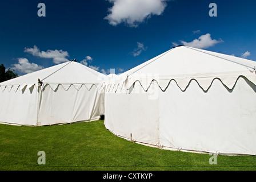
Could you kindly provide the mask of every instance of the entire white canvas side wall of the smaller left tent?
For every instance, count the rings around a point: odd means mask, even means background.
[[[21,126],[43,126],[61,123],[95,121],[105,114],[105,90],[62,85],[53,90],[46,85],[38,94],[36,86],[23,90],[0,90],[0,123]]]

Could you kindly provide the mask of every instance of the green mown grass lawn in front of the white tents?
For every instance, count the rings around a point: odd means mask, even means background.
[[[39,165],[38,151],[46,154]],[[0,170],[255,170],[256,156],[223,156],[147,147],[116,137],[103,121],[25,127],[0,125]]]

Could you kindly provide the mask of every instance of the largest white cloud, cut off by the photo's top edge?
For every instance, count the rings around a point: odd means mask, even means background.
[[[105,19],[109,24],[117,26],[126,23],[130,27],[137,27],[151,15],[161,15],[167,6],[167,0],[107,0],[114,5],[109,9]]]

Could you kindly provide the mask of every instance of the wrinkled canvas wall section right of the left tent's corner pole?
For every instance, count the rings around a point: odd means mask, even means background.
[[[38,126],[60,123],[94,121],[104,114],[104,90],[82,85],[77,90],[73,85],[65,90],[62,85],[53,90],[46,85],[41,92]]]

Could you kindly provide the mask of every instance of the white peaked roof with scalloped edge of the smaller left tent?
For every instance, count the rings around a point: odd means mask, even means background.
[[[25,87],[30,88],[33,85],[37,85],[39,78],[43,83],[42,86],[48,84],[53,90],[55,90],[59,84],[66,90],[69,89],[70,85],[74,85],[78,90],[82,85],[85,85],[87,89],[90,89],[93,85],[100,89],[105,77],[106,76],[102,73],[94,71],[85,65],[75,61],[67,61],[62,64],[54,65],[53,67],[1,82],[0,87],[2,91],[6,88],[8,90],[11,88],[15,90]]]

